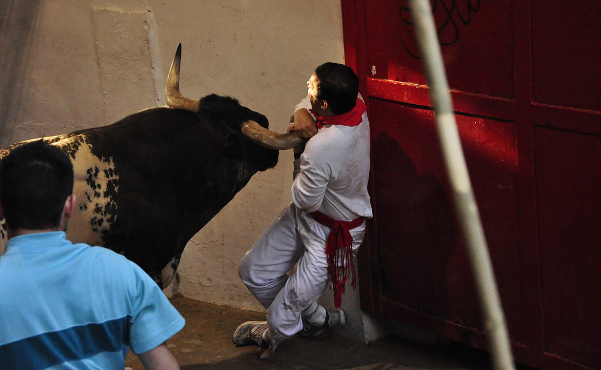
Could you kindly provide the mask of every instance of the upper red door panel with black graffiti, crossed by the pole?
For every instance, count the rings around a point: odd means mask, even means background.
[[[368,73],[378,79],[425,85],[407,3],[365,2]],[[451,89],[513,98],[511,3],[433,1]]]

